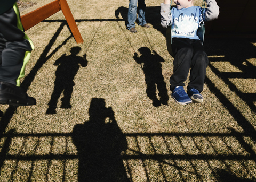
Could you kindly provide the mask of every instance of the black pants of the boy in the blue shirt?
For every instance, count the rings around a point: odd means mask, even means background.
[[[203,91],[208,57],[200,40],[173,38],[173,75],[170,78],[171,91],[175,86],[185,86],[190,70],[188,88]]]

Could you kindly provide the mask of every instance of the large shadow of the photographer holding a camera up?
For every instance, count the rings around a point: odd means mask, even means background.
[[[78,151],[78,181],[129,181],[122,160],[127,141],[114,111],[105,106],[105,99],[92,98],[89,115],[89,121],[75,125],[72,133]]]

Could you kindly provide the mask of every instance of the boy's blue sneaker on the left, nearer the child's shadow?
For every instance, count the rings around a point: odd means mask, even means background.
[[[180,105],[186,105],[192,102],[192,100],[188,97],[188,94],[185,92],[183,86],[175,87],[175,89],[172,91],[172,98]]]

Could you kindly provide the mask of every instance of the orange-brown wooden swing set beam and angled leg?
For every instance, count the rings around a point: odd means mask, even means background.
[[[49,4],[39,7],[38,9],[30,13],[21,16],[23,28],[26,31],[31,27],[34,27],[34,25],[36,25],[37,23],[45,20],[49,16],[59,12],[60,10],[64,14],[76,42],[78,44],[83,43],[83,38],[77,28],[76,22],[66,0],[55,0]]]

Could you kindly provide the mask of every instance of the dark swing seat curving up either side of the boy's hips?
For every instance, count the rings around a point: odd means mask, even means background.
[[[204,44],[204,33],[205,33],[205,27],[204,24],[201,23],[200,27],[197,29],[197,36],[202,42],[202,45]],[[166,46],[169,54],[174,57],[173,51],[172,51],[172,26],[168,26],[166,30]]]

